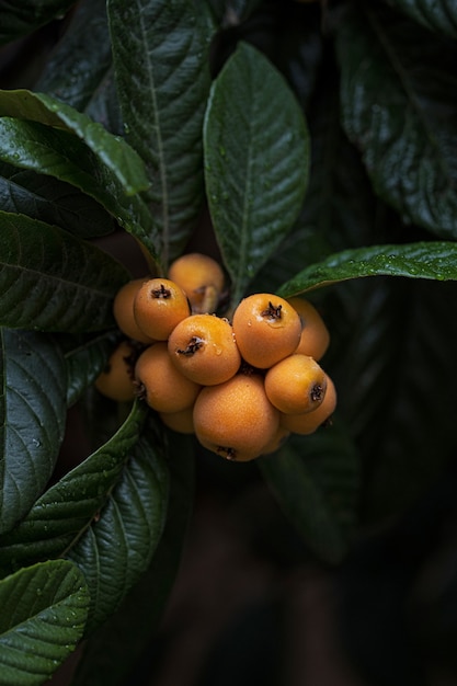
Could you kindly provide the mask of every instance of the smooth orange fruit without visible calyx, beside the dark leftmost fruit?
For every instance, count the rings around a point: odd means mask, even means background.
[[[167,343],[147,347],[135,365],[138,393],[158,412],[179,412],[195,402],[199,386],[176,369],[168,354]]]

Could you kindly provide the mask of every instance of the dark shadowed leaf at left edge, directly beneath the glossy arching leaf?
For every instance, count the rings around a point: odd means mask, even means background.
[[[115,222],[99,203],[50,176],[0,163],[0,207],[70,231],[79,238],[106,236]]]

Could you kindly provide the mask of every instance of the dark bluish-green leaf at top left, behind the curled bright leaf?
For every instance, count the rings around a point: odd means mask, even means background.
[[[106,78],[111,64],[106,1],[83,0],[77,3],[34,90],[83,112]]]

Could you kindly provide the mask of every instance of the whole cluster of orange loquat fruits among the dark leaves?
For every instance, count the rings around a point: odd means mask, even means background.
[[[173,431],[248,461],[331,418],[336,391],[320,365],[330,334],[301,297],[253,294],[220,317],[224,283],[215,260],[190,253],[167,278],[125,284],[113,311],[126,340],[95,385],[115,400],[139,396]]]

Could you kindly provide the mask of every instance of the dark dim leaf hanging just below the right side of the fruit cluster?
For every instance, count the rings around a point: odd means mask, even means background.
[[[323,561],[341,562],[356,522],[358,458],[345,427],[335,422],[310,436],[294,436],[260,470],[290,523]]]

